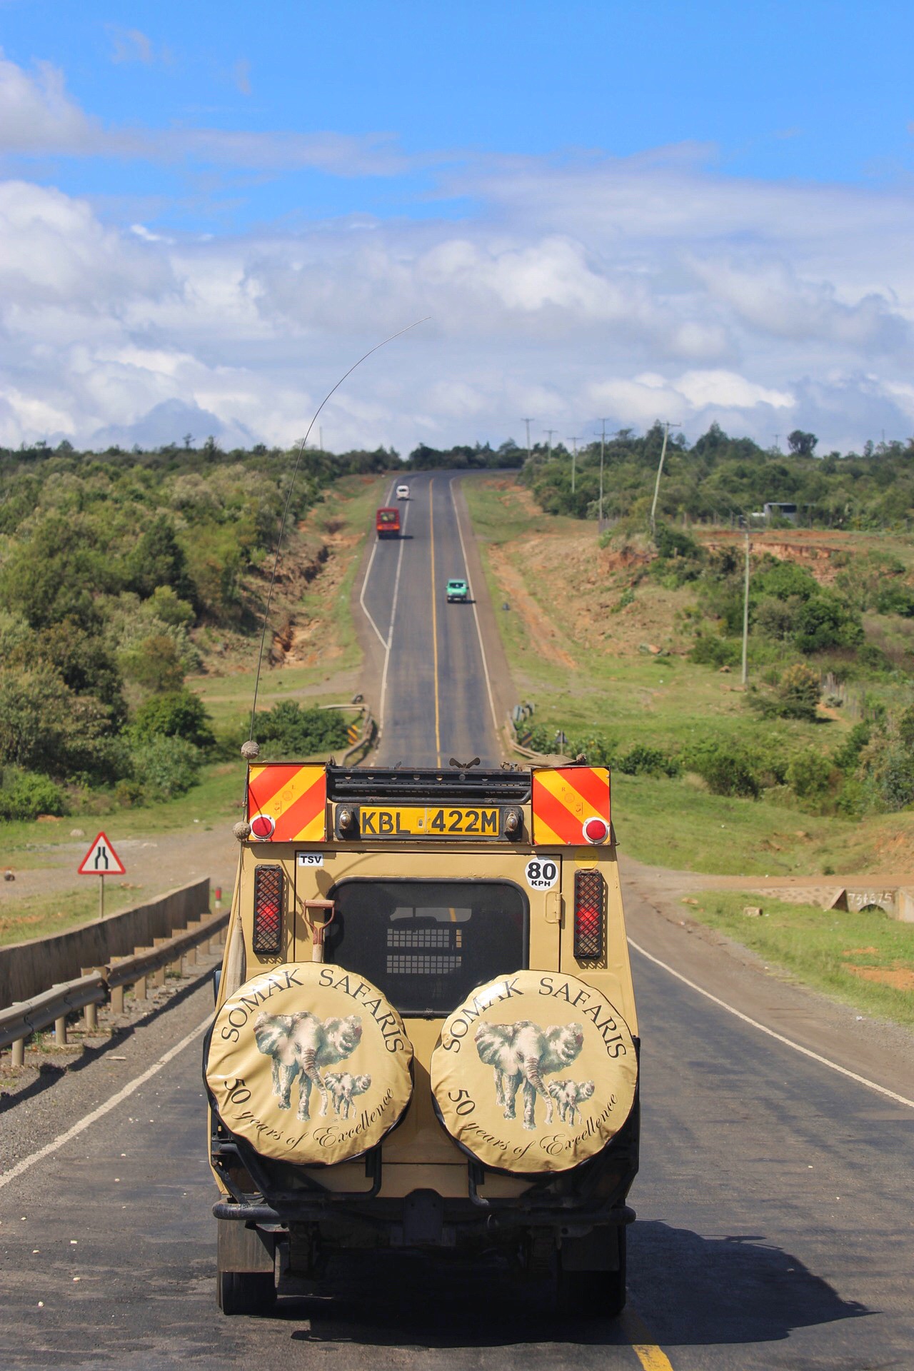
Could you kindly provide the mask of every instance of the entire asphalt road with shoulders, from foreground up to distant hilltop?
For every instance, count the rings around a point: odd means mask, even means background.
[[[471,611],[439,600],[439,668],[448,669],[439,679],[440,753],[429,732],[433,584],[460,574],[451,561],[459,536],[447,480],[410,484],[414,537],[402,544],[396,614],[396,543],[381,544],[366,594],[392,644],[382,755],[447,764],[452,746],[459,755],[469,743],[469,755],[493,760]],[[411,657],[400,657],[402,642]],[[419,758],[400,753],[410,738],[423,739]],[[617,827],[623,840],[623,814]],[[0,1366],[913,1367],[914,1109],[828,1064],[914,1100],[910,1038],[784,987],[732,945],[663,917],[645,876],[637,890],[626,884],[626,914],[643,949],[633,972],[644,1112],[622,1320],[556,1323],[541,1291],[517,1289],[491,1263],[396,1254],[332,1268],[318,1291],[281,1286],[273,1318],[222,1318],[200,1086],[210,991],[200,986],[0,1113]],[[166,1052],[171,1060],[141,1079]],[[4,1185],[11,1164],[112,1100]]]

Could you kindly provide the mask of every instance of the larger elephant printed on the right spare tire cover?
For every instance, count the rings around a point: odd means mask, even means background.
[[[565,1071],[584,1046],[581,1024],[539,1024],[522,1019],[515,1024],[480,1024],[475,1050],[480,1061],[495,1069],[495,1102],[504,1117],[514,1119],[517,1093],[523,1086],[523,1127],[536,1128],[536,1097],[545,1100],[545,1123],[552,1123],[552,1095],[543,1076]]]

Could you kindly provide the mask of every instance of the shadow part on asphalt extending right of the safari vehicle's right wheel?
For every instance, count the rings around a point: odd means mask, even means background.
[[[629,1230],[629,1298],[667,1348],[778,1342],[876,1312],[763,1237],[703,1238],[651,1220]]]

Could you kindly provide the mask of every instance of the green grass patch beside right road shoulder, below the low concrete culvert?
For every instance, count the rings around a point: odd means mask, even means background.
[[[736,891],[696,898],[689,916],[751,947],[769,965],[872,1017],[914,1024],[914,924],[881,910],[847,913]],[[762,917],[743,913],[759,905]]]

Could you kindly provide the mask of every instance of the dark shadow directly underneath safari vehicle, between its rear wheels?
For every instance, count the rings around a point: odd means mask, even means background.
[[[347,1253],[319,1296],[281,1297],[275,1316],[307,1322],[293,1342],[363,1348],[493,1348],[585,1342],[625,1346],[617,1320],[559,1319],[547,1283],[523,1283],[496,1257],[430,1260],[417,1253]]]

